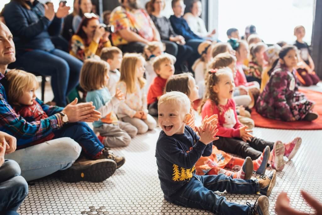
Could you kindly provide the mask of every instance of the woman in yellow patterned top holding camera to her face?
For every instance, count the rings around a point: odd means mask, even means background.
[[[84,61],[100,56],[104,47],[111,47],[109,28],[99,23],[99,17],[93,13],[85,13],[78,31],[71,37],[69,53]]]

